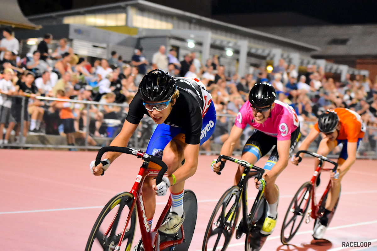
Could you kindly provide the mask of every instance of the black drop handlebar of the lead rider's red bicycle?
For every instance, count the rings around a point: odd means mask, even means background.
[[[128,147],[121,147],[121,146],[105,146],[105,147],[101,148],[100,151],[98,151],[97,157],[95,159],[95,165],[96,166],[98,164],[100,164],[101,157],[105,152],[121,152],[121,153],[124,153],[124,154],[132,154],[132,155],[135,155],[138,158],[142,158],[144,161],[147,161],[148,163],[149,163],[149,161],[152,161],[152,162],[158,164],[159,166],[161,166],[161,170],[159,171],[159,173],[157,175],[156,184],[161,183],[162,176],[164,176],[165,172],[167,171],[166,164],[160,158],[158,158],[154,155],[146,154],[142,151],[138,151],[138,150],[128,148]]]

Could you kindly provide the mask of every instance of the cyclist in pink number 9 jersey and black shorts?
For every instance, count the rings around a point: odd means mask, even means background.
[[[255,84],[251,88],[249,100],[239,110],[230,136],[220,151],[220,154],[231,155],[247,124],[255,130],[242,150],[242,160],[254,164],[275,146],[265,163],[263,178],[259,181],[255,179],[257,189],[260,189],[261,182],[265,182],[264,194],[268,211],[261,230],[265,235],[271,234],[276,225],[279,190],[275,186],[275,180],[287,167],[289,156],[301,136],[299,120],[293,108],[275,99],[276,92],[272,85]],[[212,170],[219,172],[224,167],[225,160],[215,162],[212,161]],[[241,179],[243,171],[244,167],[239,166],[234,178],[235,185]]]

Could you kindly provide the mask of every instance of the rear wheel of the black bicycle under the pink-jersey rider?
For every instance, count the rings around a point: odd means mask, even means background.
[[[261,192],[258,193],[256,201],[248,215],[248,233],[245,239],[245,251],[257,251],[262,248],[267,236],[261,234],[264,219],[267,214],[267,201]]]

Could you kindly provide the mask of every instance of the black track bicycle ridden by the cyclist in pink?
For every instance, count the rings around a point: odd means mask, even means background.
[[[247,208],[247,182],[250,178],[260,180],[264,169],[253,166],[244,160],[238,160],[225,155],[221,159],[229,160],[244,167],[241,180],[237,186],[230,187],[219,199],[205,231],[202,251],[224,251],[236,230],[236,239],[246,234],[245,251],[259,250],[267,236],[261,234],[261,229],[267,213],[267,201],[264,197],[264,183],[262,190],[258,192],[250,213]],[[220,172],[218,172],[220,174]],[[242,200],[242,220],[236,227]]]

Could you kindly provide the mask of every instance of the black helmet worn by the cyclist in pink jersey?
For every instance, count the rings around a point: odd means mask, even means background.
[[[268,83],[256,83],[249,93],[249,101],[254,107],[272,105],[275,99],[275,88]]]

